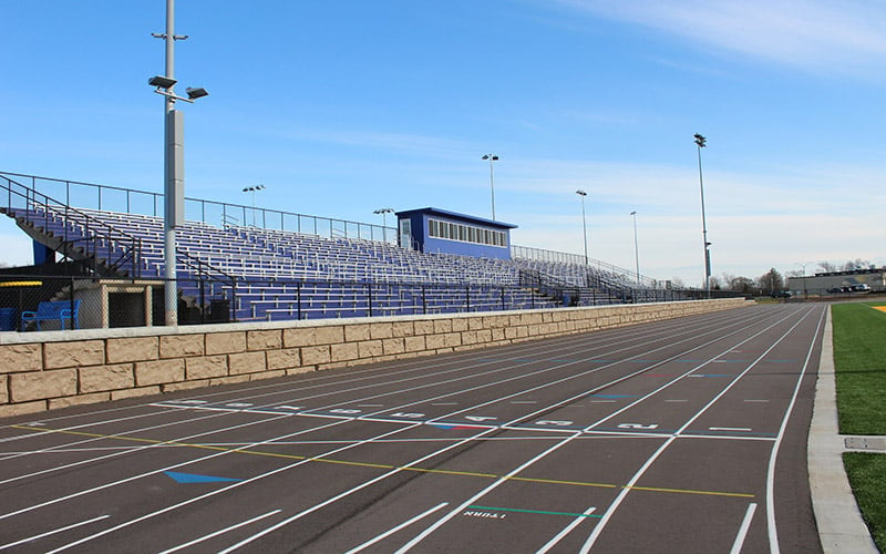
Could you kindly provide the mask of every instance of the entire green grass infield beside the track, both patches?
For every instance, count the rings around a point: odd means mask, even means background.
[[[841,434],[886,434],[886,311],[884,302],[835,304],[837,409]],[[855,500],[880,552],[886,552],[886,455],[843,455]]]

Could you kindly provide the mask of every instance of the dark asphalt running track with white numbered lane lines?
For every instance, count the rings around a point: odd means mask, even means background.
[[[4,420],[9,552],[821,552],[824,306]]]

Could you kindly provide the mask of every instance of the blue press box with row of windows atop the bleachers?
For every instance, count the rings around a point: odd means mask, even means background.
[[[398,243],[424,253],[511,259],[516,225],[432,207],[398,212]]]

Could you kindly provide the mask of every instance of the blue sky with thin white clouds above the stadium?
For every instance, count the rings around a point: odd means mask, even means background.
[[[0,171],[162,191],[164,0],[3,6]],[[701,286],[886,264],[886,4],[864,0],[178,0],[186,194],[381,223],[498,219],[515,244]],[[28,263],[0,222],[0,261]],[[390,219],[389,219],[390,223]]]

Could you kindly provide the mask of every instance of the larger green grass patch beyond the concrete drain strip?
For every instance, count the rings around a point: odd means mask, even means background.
[[[831,308],[841,434],[886,434],[886,312],[872,306]]]

